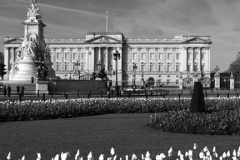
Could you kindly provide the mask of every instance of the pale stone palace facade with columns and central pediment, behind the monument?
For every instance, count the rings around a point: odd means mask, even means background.
[[[5,38],[4,63],[9,79],[16,50],[23,38]],[[179,77],[210,77],[210,36],[176,35],[172,39],[125,38],[119,32],[90,32],[85,39],[45,39],[51,50],[53,69],[61,79],[90,79],[105,68],[113,84],[137,85],[144,81],[178,85]]]

